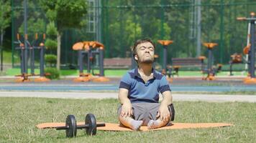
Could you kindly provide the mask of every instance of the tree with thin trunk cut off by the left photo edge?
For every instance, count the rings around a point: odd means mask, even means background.
[[[3,70],[3,40],[4,40],[4,29],[9,26],[11,22],[11,2],[9,0],[0,1],[0,51],[1,51],[1,71]]]

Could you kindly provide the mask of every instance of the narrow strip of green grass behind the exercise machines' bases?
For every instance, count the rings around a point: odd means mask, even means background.
[[[117,76],[117,77],[122,77],[129,69],[106,69],[104,71],[105,76]],[[30,72],[30,70],[29,70]],[[39,74],[40,70],[35,69],[35,73]],[[86,73],[86,70],[83,72]],[[95,73],[99,73],[99,70],[94,70]],[[60,71],[61,76],[77,76],[79,73],[78,70],[76,69],[62,69]],[[14,69],[8,69],[6,71],[6,75],[8,76],[14,76],[16,74],[20,74],[20,69],[14,68]],[[242,71],[234,71],[233,72],[234,76],[246,76],[247,74]],[[229,71],[221,71],[217,76],[227,76],[229,75]],[[179,76],[202,76],[201,71],[179,71]],[[176,77],[176,76],[175,76]]]

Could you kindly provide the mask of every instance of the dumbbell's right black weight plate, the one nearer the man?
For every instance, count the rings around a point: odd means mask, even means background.
[[[95,135],[97,132],[97,123],[95,116],[93,114],[87,114],[85,123],[87,125],[86,134],[90,136]]]

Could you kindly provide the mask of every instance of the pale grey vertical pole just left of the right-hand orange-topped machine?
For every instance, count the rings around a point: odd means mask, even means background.
[[[196,57],[201,55],[201,0],[197,0]]]

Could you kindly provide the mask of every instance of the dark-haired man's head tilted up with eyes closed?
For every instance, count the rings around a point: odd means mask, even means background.
[[[139,63],[152,64],[154,61],[154,46],[150,42],[144,42],[136,46],[137,54],[134,59]]]

